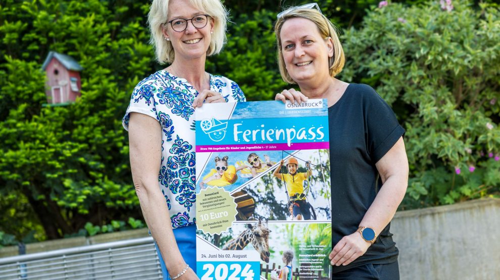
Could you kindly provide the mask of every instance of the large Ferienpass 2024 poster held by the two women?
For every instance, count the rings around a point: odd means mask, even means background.
[[[198,277],[331,279],[326,100],[205,104],[195,129]]]

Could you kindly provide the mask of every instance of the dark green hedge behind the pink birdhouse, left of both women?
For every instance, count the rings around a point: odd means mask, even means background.
[[[31,222],[2,223],[0,230],[21,240],[35,228],[38,239],[55,239],[87,222],[140,218],[121,118],[133,87],[157,66],[147,43],[147,7],[129,0],[0,6],[0,200],[16,195],[31,208],[0,202],[3,217]],[[84,68],[82,96],[73,104],[42,106],[40,68],[49,50]],[[12,215],[19,211],[33,216]]]

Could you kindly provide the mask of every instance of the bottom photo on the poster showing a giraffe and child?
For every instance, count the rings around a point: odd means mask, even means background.
[[[214,256],[258,258],[258,279],[272,279],[281,268],[292,271],[292,279],[331,279],[328,254],[331,251],[329,222],[237,222],[221,235],[197,232],[197,250]],[[216,253],[213,253],[216,250]],[[224,258],[222,258],[224,260]]]

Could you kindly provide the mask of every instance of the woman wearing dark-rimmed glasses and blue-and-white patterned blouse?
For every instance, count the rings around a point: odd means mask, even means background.
[[[135,87],[123,118],[133,182],[165,279],[197,279],[194,110],[245,101],[236,83],[205,72],[207,55],[225,42],[226,22],[220,0],[154,0],[151,43],[170,65]]]

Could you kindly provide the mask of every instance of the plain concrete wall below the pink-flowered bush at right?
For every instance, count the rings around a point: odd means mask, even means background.
[[[500,279],[500,199],[396,213],[401,279]]]

